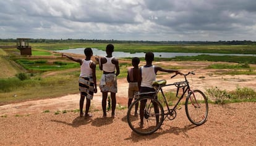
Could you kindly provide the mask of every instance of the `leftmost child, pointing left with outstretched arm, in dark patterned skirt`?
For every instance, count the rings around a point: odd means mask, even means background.
[[[86,96],[85,118],[92,117],[92,114],[88,114],[93,99],[93,93],[97,92],[96,84],[96,64],[91,60],[93,51],[90,47],[85,48],[85,59],[74,59],[73,57],[62,54],[74,62],[80,63],[80,76],[79,76],[79,91],[80,91],[80,117],[83,116],[83,102]]]

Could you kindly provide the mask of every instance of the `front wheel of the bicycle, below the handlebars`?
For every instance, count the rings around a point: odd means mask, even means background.
[[[186,114],[189,121],[195,125],[205,123],[208,116],[207,97],[200,90],[195,90],[194,94],[189,94],[186,99]]]

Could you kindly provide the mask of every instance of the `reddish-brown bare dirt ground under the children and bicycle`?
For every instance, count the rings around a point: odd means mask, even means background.
[[[163,63],[163,62],[161,62]],[[224,70],[204,69],[211,62],[193,62],[196,75],[189,76],[193,89],[205,91],[218,87],[233,91],[236,87],[256,90],[256,76],[216,75]],[[157,62],[156,62],[157,64]],[[168,63],[167,63],[168,64]],[[172,62],[171,65],[190,65]],[[189,70],[181,70],[186,73]],[[168,83],[182,81],[182,76],[159,74]],[[117,104],[127,106],[126,79],[117,79]],[[174,91],[174,87],[165,90]],[[100,90],[98,90],[100,91]],[[115,118],[102,118],[101,93],[92,100],[92,118],[80,118],[79,94],[54,99],[33,100],[0,106],[0,145],[255,145],[256,103],[209,105],[208,120],[194,126],[187,120],[185,108],[177,111],[176,119],[164,121],[161,129],[150,136],[132,132],[126,121],[125,110],[116,110]],[[96,112],[96,109],[98,111]],[[49,113],[43,113],[49,110]],[[58,115],[55,112],[61,111]]]

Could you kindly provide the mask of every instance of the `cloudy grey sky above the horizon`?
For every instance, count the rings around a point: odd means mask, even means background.
[[[255,0],[0,0],[0,38],[256,41]]]

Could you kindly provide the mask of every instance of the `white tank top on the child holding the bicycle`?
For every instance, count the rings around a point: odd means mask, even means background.
[[[142,87],[153,87],[152,83],[156,80],[155,66],[142,67]]]

